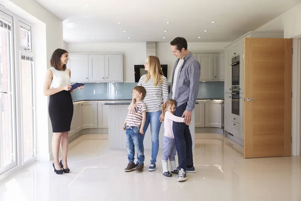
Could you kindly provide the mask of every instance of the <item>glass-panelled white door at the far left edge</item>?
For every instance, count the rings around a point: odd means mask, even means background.
[[[17,165],[12,22],[0,12],[0,174]]]

